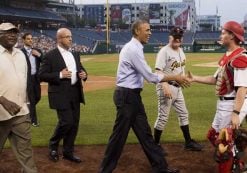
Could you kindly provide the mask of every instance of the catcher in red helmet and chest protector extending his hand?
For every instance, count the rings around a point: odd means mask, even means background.
[[[240,43],[244,42],[243,27],[235,21],[225,23],[220,42],[227,51],[220,59],[214,76],[195,76],[190,73],[189,76],[192,82],[216,85],[219,99],[207,137],[216,148],[215,160],[219,165],[219,173],[231,173],[236,172],[235,163],[241,163],[238,147],[235,147],[237,135],[234,131],[247,113],[247,55],[246,50],[240,47]]]

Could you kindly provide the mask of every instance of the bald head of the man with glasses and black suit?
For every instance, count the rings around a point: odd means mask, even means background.
[[[60,28],[57,30],[57,44],[62,48],[68,50],[72,45],[72,34],[67,28]]]

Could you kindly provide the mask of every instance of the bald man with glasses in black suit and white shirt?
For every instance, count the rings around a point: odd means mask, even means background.
[[[63,158],[80,163],[74,155],[74,142],[80,119],[80,103],[84,103],[82,81],[87,72],[80,63],[79,54],[72,54],[72,34],[69,29],[57,31],[57,48],[44,56],[40,67],[41,81],[48,82],[48,98],[51,109],[56,109],[58,124],[49,142],[49,157],[58,161],[58,146],[63,139]]]

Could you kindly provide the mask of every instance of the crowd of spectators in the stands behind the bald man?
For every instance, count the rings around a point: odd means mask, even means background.
[[[22,41],[22,35],[23,33],[20,33],[17,46],[16,47],[23,47],[23,41]],[[46,35],[39,35],[39,36],[34,36],[33,37],[33,47],[41,49],[44,53],[48,52],[51,49],[54,49],[56,47],[56,41],[48,37]],[[72,51],[80,52],[82,54],[89,53],[90,48],[85,46],[85,45],[77,45],[73,44],[72,45]]]

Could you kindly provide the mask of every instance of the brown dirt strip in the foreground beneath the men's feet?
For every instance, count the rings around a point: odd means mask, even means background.
[[[182,144],[165,144],[167,160],[171,167],[180,169],[180,173],[216,173],[216,164],[212,159],[213,148],[204,143],[201,152],[184,151]],[[75,154],[82,159],[76,164],[61,159],[51,162],[48,148],[34,148],[34,158],[39,173],[97,173],[104,154],[105,146],[76,146]],[[20,173],[11,149],[4,149],[0,155],[0,173]],[[126,145],[114,173],[151,173],[150,164],[140,145]]]

